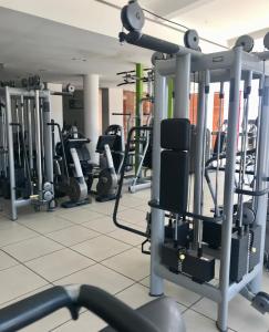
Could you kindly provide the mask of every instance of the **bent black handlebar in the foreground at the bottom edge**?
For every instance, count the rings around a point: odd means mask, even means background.
[[[158,332],[145,317],[92,286],[53,287],[0,310],[0,332],[18,331],[50,313],[68,308],[74,320],[84,307],[118,332]]]

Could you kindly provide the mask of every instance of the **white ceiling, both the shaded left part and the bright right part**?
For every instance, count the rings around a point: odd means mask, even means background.
[[[106,2],[120,7],[127,3],[126,0]],[[219,43],[250,32],[256,32],[261,41],[257,31],[265,34],[269,24],[269,0],[139,0],[139,3]],[[82,74],[100,73],[103,86],[116,85],[120,82],[116,72],[133,70],[136,62],[149,65],[152,54],[127,44],[121,46],[116,38],[2,7],[0,31],[0,63],[3,63],[0,81],[40,74],[44,81],[81,84]]]

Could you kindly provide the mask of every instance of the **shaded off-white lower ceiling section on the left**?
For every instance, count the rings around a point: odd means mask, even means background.
[[[99,73],[102,85],[114,85],[116,72],[133,70],[136,62],[149,63],[152,54],[121,46],[110,37],[3,8],[0,31],[0,81],[39,74],[44,81],[80,84],[82,74]]]

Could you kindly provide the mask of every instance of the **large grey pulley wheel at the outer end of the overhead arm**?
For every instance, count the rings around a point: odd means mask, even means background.
[[[141,31],[145,23],[145,15],[136,1],[124,6],[121,13],[123,27],[128,31]]]

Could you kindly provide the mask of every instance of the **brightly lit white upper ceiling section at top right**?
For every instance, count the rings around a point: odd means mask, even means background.
[[[127,3],[127,0],[106,1],[120,7]],[[263,29],[269,31],[269,0],[138,0],[138,3],[218,43],[226,44],[230,39]]]

